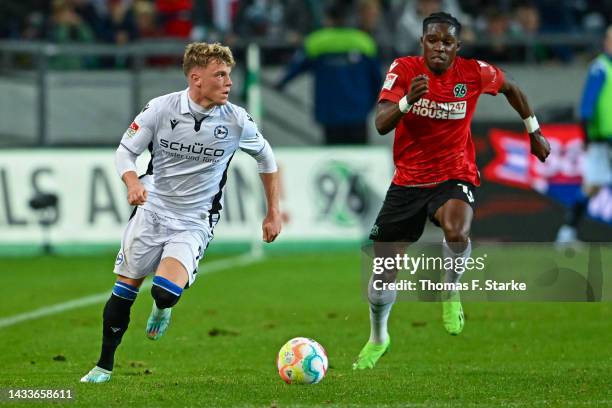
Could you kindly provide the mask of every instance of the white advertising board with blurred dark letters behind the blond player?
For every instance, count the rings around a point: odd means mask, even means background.
[[[392,176],[386,148],[276,149],[281,207],[279,240],[358,240],[367,233]],[[113,149],[0,151],[0,245],[41,241],[37,192],[58,196],[52,244],[118,242],[132,212],[114,168]],[[148,157],[139,158],[141,173]],[[265,214],[255,161],[237,154],[230,165],[215,241],[253,241]]]

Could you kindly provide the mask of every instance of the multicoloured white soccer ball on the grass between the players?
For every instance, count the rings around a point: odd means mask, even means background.
[[[276,365],[287,384],[316,384],[327,372],[327,354],[316,341],[296,337],[281,347]]]

